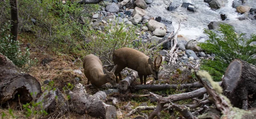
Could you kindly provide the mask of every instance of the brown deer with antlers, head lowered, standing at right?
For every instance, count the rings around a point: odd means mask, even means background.
[[[146,84],[147,75],[153,74],[154,79],[158,80],[158,72],[162,63],[162,56],[156,57],[153,64],[151,59],[144,53],[136,49],[123,47],[114,51],[113,62],[115,65],[117,64],[115,75],[117,76],[118,74],[120,80],[122,78],[120,71],[125,67],[128,67],[138,72],[140,84],[143,84],[144,75],[144,84]],[[116,82],[118,82],[117,77]]]

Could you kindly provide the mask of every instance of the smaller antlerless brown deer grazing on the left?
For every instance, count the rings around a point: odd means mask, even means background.
[[[112,86],[116,86],[116,76],[114,72],[116,70],[115,66],[111,72],[102,67],[102,62],[99,58],[93,54],[86,55],[84,57],[84,75],[88,79],[87,84],[91,82],[93,87],[99,91],[99,87],[110,82]],[[103,73],[103,69],[105,73]]]

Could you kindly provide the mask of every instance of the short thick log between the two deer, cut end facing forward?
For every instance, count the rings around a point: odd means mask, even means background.
[[[119,89],[122,91],[128,90],[131,83],[135,81],[137,76],[138,76],[138,72],[133,70],[128,76],[125,77],[125,79],[119,82]]]

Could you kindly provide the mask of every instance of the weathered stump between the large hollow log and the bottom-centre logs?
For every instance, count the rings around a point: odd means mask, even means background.
[[[57,113],[56,115],[64,114],[68,110],[67,101],[58,88],[45,90],[37,100],[37,103],[42,103],[39,108],[42,106],[43,110],[51,113],[51,115],[55,113]]]

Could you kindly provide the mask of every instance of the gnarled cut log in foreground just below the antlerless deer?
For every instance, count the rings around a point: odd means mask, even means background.
[[[86,93],[82,84],[76,84],[70,95],[70,109],[79,114],[102,119],[116,119],[116,107],[105,104],[102,100],[106,94],[99,91],[94,96]],[[100,97],[100,99],[98,99]]]

